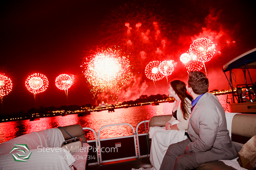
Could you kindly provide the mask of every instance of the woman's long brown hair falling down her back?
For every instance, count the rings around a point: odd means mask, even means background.
[[[192,101],[192,97],[187,92],[186,84],[181,80],[173,80],[172,82],[170,82],[170,85],[172,86],[173,90],[180,98],[180,101],[181,101],[180,108],[183,114],[183,118],[187,120],[189,117],[188,107],[191,106],[191,104],[186,100],[186,98]]]

